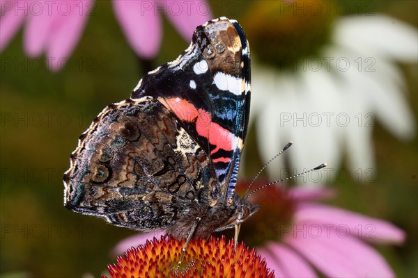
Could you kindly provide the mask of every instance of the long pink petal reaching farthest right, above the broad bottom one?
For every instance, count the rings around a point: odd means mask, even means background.
[[[327,227],[348,228],[350,236],[357,236],[375,243],[400,244],[405,240],[405,232],[389,222],[332,206],[302,203],[293,217],[295,222],[319,224],[323,227],[323,231]]]

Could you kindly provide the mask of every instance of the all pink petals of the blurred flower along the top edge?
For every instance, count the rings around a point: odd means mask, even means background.
[[[82,36],[93,0],[27,1],[0,0],[0,51],[3,51],[24,24],[26,54],[45,54],[50,70],[65,67]],[[160,50],[162,22],[167,15],[180,35],[189,41],[194,28],[212,18],[209,4],[197,1],[114,0],[114,10],[127,41],[138,56],[154,58]]]

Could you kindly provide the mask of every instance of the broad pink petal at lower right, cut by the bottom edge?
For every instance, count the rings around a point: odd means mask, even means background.
[[[344,238],[335,233],[318,237],[304,236],[306,227],[300,224],[297,237],[289,236],[286,243],[305,256],[327,277],[394,277],[385,259],[361,240]],[[309,229],[307,230],[309,231]],[[306,235],[306,234],[305,234]]]

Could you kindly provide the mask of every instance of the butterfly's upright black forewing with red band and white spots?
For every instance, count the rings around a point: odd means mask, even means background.
[[[176,60],[144,76],[131,98],[153,96],[173,111],[210,155],[227,202],[233,202],[250,101],[249,46],[224,17],[198,26]]]

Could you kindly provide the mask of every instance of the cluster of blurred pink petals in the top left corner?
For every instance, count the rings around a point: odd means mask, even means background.
[[[61,70],[82,36],[93,5],[92,0],[1,1],[0,51],[25,24],[26,54],[31,58],[45,54],[47,66]]]

